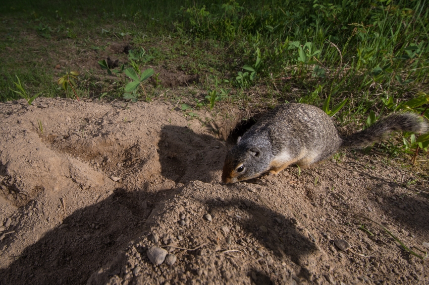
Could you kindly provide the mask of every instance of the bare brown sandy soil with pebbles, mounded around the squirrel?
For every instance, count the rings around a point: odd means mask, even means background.
[[[33,104],[0,104],[1,284],[429,283],[356,216],[420,253],[429,195],[410,171],[346,153],[223,185],[231,145],[169,103]]]

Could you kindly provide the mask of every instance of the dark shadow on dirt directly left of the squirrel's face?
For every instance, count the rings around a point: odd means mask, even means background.
[[[208,134],[165,125],[158,142],[161,175],[176,182],[220,181],[227,148]]]

